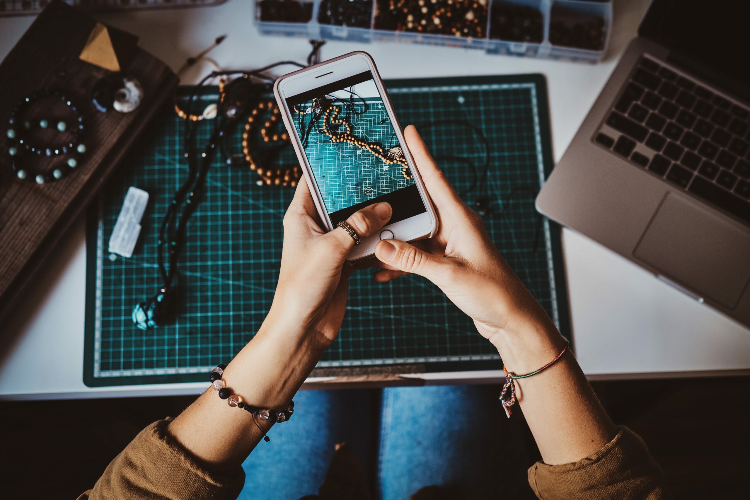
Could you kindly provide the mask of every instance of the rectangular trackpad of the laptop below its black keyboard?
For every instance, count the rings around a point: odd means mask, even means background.
[[[750,280],[750,234],[671,193],[633,254],[727,309],[736,307]]]

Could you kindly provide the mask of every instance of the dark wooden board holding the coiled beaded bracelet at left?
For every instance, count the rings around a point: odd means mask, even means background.
[[[117,168],[148,121],[172,96],[178,78],[136,46],[133,35],[110,29],[122,73],[139,80],[144,98],[130,113],[98,112],[95,82],[108,71],[81,61],[95,19],[53,0],[0,64],[0,325],[55,244]],[[45,86],[61,88],[86,115],[86,157],[75,172],[50,184],[15,178],[7,165],[7,118],[17,101]],[[53,160],[50,160],[53,161]],[[43,163],[38,163],[45,169]],[[83,298],[82,298],[83,300]],[[0,331],[2,328],[0,328]]]

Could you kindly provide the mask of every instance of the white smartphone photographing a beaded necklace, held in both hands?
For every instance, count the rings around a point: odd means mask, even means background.
[[[327,230],[373,203],[393,208],[388,225],[362,238],[350,261],[373,256],[383,239],[435,234],[437,215],[369,54],[350,52],[281,76],[274,94]]]

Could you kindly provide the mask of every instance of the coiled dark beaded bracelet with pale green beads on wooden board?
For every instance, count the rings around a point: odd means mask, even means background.
[[[43,98],[62,100],[65,106],[68,106],[68,109],[73,112],[72,120],[58,120],[55,124],[58,132],[68,133],[70,136],[70,139],[62,144],[44,146],[28,139],[27,133],[32,128],[46,129],[52,125],[46,118],[37,121],[23,120],[26,108],[34,103],[34,101]],[[28,97],[23,97],[18,101],[13,111],[10,112],[10,118],[8,118],[6,136],[7,153],[10,156],[10,168],[22,180],[36,182],[37,184],[57,181],[80,164],[82,155],[86,153],[86,145],[83,144],[83,134],[85,131],[86,125],[84,124],[83,113],[80,112],[74,101],[66,96],[64,92],[52,88],[43,88]],[[70,156],[50,172],[31,175],[31,166],[25,161],[26,159],[23,157],[24,153],[37,157]]]

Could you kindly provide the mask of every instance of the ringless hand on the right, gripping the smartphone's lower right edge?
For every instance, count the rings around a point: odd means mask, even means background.
[[[547,342],[539,347],[551,341],[550,352],[564,340],[502,258],[479,214],[466,206],[437,167],[416,128],[410,125],[404,136],[437,211],[440,228],[433,238],[415,244],[380,241],[375,255],[382,269],[374,274],[375,280],[386,282],[409,273],[427,278],[471,316],[479,333],[499,349],[503,359],[507,356],[519,365],[532,366],[536,355],[507,352],[514,350],[508,336],[542,334]],[[544,358],[547,353],[536,354]],[[525,367],[513,369],[523,373]]]

